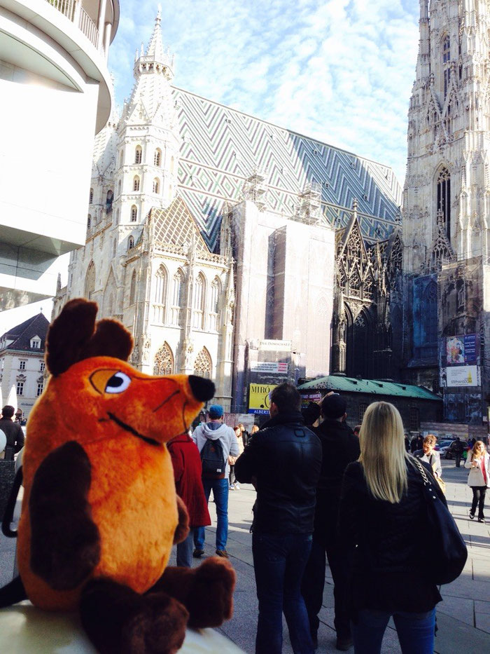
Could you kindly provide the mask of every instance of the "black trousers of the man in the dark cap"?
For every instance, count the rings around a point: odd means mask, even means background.
[[[335,601],[335,631],[337,637],[348,638],[351,635],[349,614],[349,581],[346,575],[349,568],[346,557],[338,551],[335,542],[326,542],[315,538],[306,568],[304,569],[301,592],[306,604],[309,628],[312,635],[318,632],[321,605],[323,603],[323,588],[325,586],[325,554],[333,578],[333,597]]]

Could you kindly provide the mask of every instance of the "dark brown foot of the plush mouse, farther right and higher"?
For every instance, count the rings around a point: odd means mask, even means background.
[[[233,615],[235,570],[226,559],[209,557],[195,568],[186,606],[189,627],[219,627]]]

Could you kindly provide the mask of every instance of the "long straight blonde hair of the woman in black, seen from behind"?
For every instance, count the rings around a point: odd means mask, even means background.
[[[389,402],[367,407],[359,432],[367,488],[378,500],[400,502],[407,490],[407,458],[402,416]]]

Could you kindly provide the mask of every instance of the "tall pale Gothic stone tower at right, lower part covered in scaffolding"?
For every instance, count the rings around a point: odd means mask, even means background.
[[[407,381],[441,388],[445,419],[482,425],[490,363],[490,2],[419,3],[403,196]]]

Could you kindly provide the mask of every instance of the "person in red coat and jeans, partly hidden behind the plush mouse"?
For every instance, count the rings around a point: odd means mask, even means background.
[[[174,465],[175,488],[189,514],[189,535],[177,545],[177,565],[191,567],[195,527],[211,524],[208,503],[201,480],[201,456],[197,445],[187,434],[176,436],[167,443]]]

